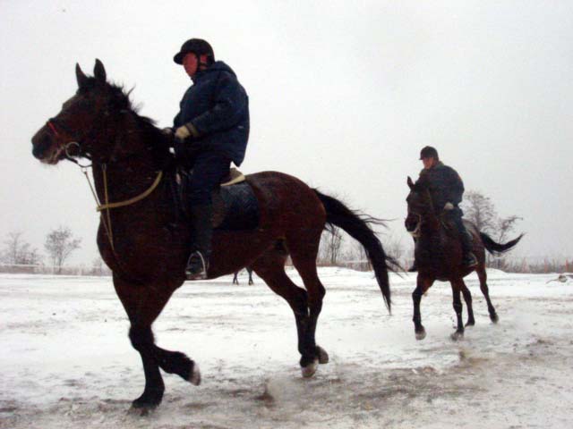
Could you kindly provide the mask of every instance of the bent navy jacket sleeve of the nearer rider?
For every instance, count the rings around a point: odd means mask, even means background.
[[[200,136],[219,130],[228,130],[243,117],[247,95],[234,76],[222,73],[217,82],[214,98],[215,104],[210,110],[191,120]]]

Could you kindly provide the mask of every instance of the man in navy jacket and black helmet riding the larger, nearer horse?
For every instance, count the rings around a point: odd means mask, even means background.
[[[249,98],[235,72],[215,61],[213,49],[200,38],[187,40],[175,55],[192,79],[173,121],[175,156],[192,168],[193,247],[188,280],[207,278],[211,253],[211,191],[227,176],[231,162],[240,165],[249,138]]]

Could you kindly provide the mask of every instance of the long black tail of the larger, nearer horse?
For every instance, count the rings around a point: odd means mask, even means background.
[[[353,239],[363,245],[366,256],[372,264],[376,281],[380,286],[382,296],[388,311],[391,311],[390,286],[388,270],[394,271],[393,266],[399,266],[393,257],[389,257],[382,248],[382,243],[372,230],[372,225],[383,225],[381,219],[376,219],[366,214],[351,210],[336,198],[329,197],[312,189],[320,198],[322,206],[326,210],[326,228],[338,226],[348,233]]]

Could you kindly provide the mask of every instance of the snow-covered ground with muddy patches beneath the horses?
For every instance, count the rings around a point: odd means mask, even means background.
[[[289,272],[300,284],[294,271]],[[330,362],[298,366],[294,316],[260,279],[186,283],[154,325],[158,345],[201,367],[165,374],[149,416],[128,412],[143,372],[107,278],[0,275],[1,428],[568,428],[573,425],[573,279],[490,271],[491,324],[475,276],[476,324],[454,342],[449,283],[422,300],[392,275],[388,315],[372,273],[324,268],[317,330]]]

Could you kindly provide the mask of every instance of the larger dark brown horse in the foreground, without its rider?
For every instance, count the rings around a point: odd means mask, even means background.
[[[98,248],[113,271],[115,291],[131,322],[129,338],[141,354],[145,389],[135,408],[157,406],[165,391],[159,368],[200,383],[198,366],[183,353],[159,348],[151,324],[184,282],[190,227],[177,216],[175,169],[166,137],[137,114],[122,88],[109,84],[98,60],[94,76],[76,65],[78,91],[62,111],[32,138],[33,155],[46,164],[89,158],[100,201]],[[335,198],[280,172],[247,176],[259,204],[260,222],[252,231],[216,231],[210,278],[250,265],[295,313],[300,365],[314,374],[328,354],[314,339],[325,290],[316,257],[325,225],[337,225],[363,244],[382,295],[390,307],[388,267],[375,219],[356,214]],[[107,203],[123,202],[124,206]],[[105,208],[107,207],[107,208]],[[300,273],[304,288],[286,275],[286,257]]]

